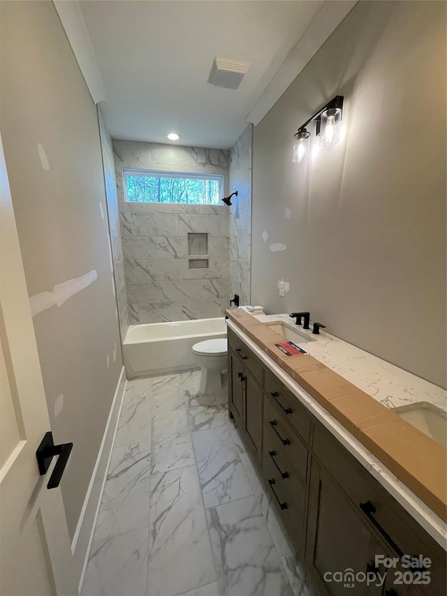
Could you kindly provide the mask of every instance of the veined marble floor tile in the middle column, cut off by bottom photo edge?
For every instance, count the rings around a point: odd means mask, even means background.
[[[216,581],[196,466],[151,481],[149,596],[177,596]]]

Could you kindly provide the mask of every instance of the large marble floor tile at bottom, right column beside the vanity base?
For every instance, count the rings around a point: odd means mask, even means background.
[[[254,495],[207,510],[221,596],[292,596]]]

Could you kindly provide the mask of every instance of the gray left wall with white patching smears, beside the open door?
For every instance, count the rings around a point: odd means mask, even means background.
[[[34,316],[54,441],[74,445],[61,482],[73,537],[122,370],[98,117],[53,3],[0,10],[1,136],[29,296],[97,273]]]

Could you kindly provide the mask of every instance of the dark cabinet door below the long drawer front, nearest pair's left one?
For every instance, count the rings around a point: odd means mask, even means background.
[[[346,495],[313,460],[305,558],[323,593],[373,593],[365,581],[353,579],[368,570],[371,541],[371,533]]]

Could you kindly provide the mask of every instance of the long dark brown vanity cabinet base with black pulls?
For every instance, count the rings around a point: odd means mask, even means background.
[[[230,329],[228,347],[230,416],[318,593],[444,596],[444,549]],[[375,568],[375,556],[403,554],[432,560],[430,583],[415,583],[398,567],[383,585],[350,581],[352,573],[383,577],[387,569]],[[395,583],[399,571],[406,576]],[[328,581],[336,572],[347,581]]]

